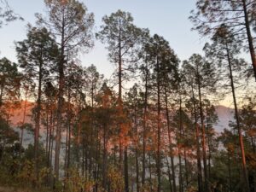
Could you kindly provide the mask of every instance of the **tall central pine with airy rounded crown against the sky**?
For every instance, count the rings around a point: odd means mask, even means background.
[[[130,13],[118,10],[109,16],[104,16],[102,31],[96,36],[103,43],[108,44],[108,58],[115,64],[118,64],[118,84],[119,84],[119,115],[123,116],[122,104],[122,82],[127,77],[128,73],[134,73],[134,64],[139,60],[140,48],[144,36],[144,31],[133,24],[133,18]],[[119,165],[122,166],[123,161],[123,125],[119,124]],[[124,136],[126,137],[126,136]],[[125,139],[125,138],[124,138]],[[127,146],[125,146],[125,191],[129,191],[128,179],[128,161],[127,161]]]

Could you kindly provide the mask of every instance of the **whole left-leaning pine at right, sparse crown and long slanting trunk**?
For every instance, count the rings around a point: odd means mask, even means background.
[[[241,70],[242,67],[244,67],[247,63],[243,60],[239,60],[236,58],[236,55],[240,53],[239,44],[241,44],[241,42],[237,41],[236,38],[234,38],[234,36],[230,34],[229,29],[225,25],[221,26],[216,30],[215,35],[212,37],[212,41],[212,46],[207,45],[205,49],[207,51],[207,55],[212,56],[215,59],[217,58],[220,66],[226,65],[224,73],[230,79],[230,88],[232,91],[232,97],[235,108],[236,126],[239,134],[241,148],[243,180],[246,186],[246,190],[249,191],[244,143],[240,125],[239,110],[236,102],[236,79],[234,75],[234,71]]]

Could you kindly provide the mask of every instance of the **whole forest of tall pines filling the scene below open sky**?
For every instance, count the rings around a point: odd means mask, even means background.
[[[79,0],[34,17],[17,62],[0,55],[0,191],[256,191],[256,0],[196,0],[207,43],[184,61],[125,10],[97,29]],[[0,0],[0,30],[22,20]],[[111,78],[79,60],[96,41]]]

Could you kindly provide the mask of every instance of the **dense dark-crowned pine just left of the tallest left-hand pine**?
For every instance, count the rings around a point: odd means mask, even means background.
[[[35,172],[38,179],[38,144],[42,110],[42,86],[44,85],[45,78],[49,75],[50,65],[55,62],[58,49],[55,40],[50,38],[46,28],[38,29],[29,26],[27,39],[16,44],[16,51],[20,67],[24,69],[26,76],[38,81],[34,138]]]

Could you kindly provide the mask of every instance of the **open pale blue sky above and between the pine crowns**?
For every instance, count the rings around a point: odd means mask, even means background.
[[[102,24],[102,16],[117,9],[131,12],[139,27],[148,28],[151,34],[158,33],[170,42],[180,60],[188,59],[193,53],[201,53],[205,44],[197,32],[191,32],[192,24],[188,20],[189,12],[195,7],[195,0],[83,0],[90,12],[95,14],[96,30]],[[33,23],[35,13],[44,13],[43,0],[9,0],[9,5],[25,21],[15,21],[0,29],[1,57],[12,61],[15,58],[14,41],[26,38],[26,24]],[[109,77],[113,73],[113,64],[108,61],[108,51],[104,45],[95,42],[89,54],[81,55],[83,65],[95,64],[100,73]]]

